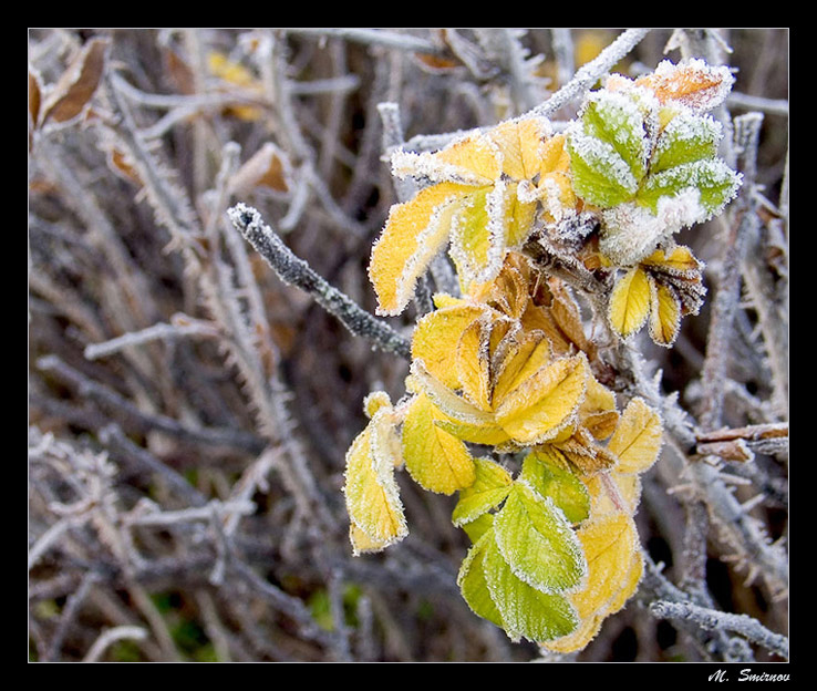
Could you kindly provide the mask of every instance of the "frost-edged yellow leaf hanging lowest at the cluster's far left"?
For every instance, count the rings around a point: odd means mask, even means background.
[[[394,479],[394,447],[387,439],[393,431],[385,423],[383,412],[375,413],[347,452],[343,493],[355,550],[383,548],[408,533]]]

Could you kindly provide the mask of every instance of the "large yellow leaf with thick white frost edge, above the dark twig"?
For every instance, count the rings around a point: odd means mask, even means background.
[[[473,189],[467,185],[441,183],[391,208],[369,265],[379,314],[403,311],[414,295],[417,279],[447,243],[452,214]]]

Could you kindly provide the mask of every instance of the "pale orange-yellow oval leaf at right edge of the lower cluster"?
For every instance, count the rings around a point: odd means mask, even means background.
[[[663,427],[661,417],[642,399],[632,399],[621,415],[608,450],[616,454],[619,473],[643,473],[658,458]]]

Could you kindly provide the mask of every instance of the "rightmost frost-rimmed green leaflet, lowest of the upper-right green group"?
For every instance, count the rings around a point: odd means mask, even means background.
[[[720,158],[693,161],[649,175],[638,193],[637,202],[656,214],[661,197],[673,197],[690,188],[697,189],[701,208],[696,220],[702,221],[720,212],[734,197],[740,184],[741,176]]]

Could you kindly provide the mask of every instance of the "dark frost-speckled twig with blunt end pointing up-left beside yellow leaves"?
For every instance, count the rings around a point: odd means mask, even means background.
[[[237,204],[229,209],[228,215],[236,229],[267,260],[283,282],[307,291],[355,336],[370,340],[385,352],[410,358],[411,346],[405,338],[330,286],[303,259],[296,257],[275,230],[263,223],[258,210],[246,204]]]

